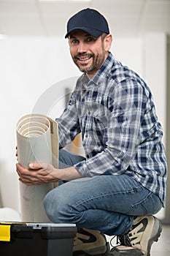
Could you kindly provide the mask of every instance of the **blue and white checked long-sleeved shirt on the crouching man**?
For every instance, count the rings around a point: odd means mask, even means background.
[[[109,53],[92,79],[82,75],[60,118],[60,148],[82,132],[82,176],[120,175],[139,181],[165,202],[166,154],[152,94],[144,80]]]

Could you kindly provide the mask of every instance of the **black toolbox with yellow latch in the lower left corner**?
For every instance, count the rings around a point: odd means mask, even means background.
[[[0,222],[3,256],[72,256],[74,224]]]

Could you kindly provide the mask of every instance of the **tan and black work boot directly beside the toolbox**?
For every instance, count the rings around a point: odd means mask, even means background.
[[[97,230],[80,228],[74,238],[73,255],[107,255],[109,243],[105,236]]]

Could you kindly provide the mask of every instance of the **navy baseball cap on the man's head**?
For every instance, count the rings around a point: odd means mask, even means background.
[[[87,8],[77,12],[67,23],[66,37],[75,29],[82,29],[93,37],[100,37],[101,34],[109,34],[107,20],[100,12]]]

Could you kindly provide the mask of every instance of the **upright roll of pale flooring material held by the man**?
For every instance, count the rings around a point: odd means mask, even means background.
[[[58,126],[53,119],[40,114],[20,118],[17,124],[18,162],[47,162],[58,167]],[[56,184],[27,186],[20,182],[20,208],[23,222],[50,222],[43,200]]]

